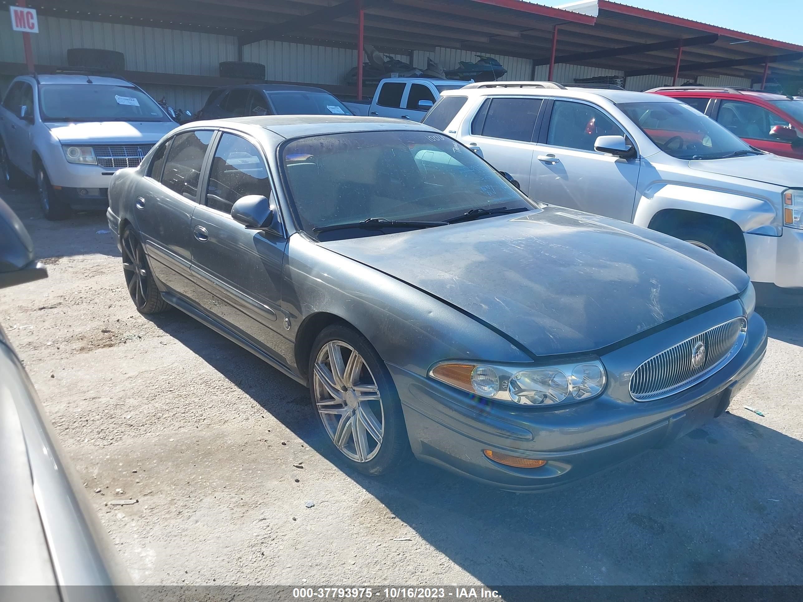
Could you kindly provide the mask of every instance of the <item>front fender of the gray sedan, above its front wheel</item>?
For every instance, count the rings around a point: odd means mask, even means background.
[[[304,319],[326,312],[357,328],[385,362],[421,375],[446,359],[532,361],[463,311],[304,234],[288,242],[282,286],[293,340]]]

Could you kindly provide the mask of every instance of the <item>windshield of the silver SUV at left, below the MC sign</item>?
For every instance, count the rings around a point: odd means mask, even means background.
[[[46,83],[39,87],[43,121],[169,121],[136,87],[102,83]]]

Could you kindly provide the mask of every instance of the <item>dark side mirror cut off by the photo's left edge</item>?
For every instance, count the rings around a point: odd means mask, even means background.
[[[34,258],[34,243],[17,214],[0,200],[0,288],[47,278]]]

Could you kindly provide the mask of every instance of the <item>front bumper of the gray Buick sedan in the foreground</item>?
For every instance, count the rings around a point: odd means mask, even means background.
[[[567,485],[668,445],[724,413],[756,373],[766,347],[766,324],[753,314],[736,356],[691,388],[642,403],[603,395],[564,409],[494,403],[406,368],[391,364],[389,370],[419,459],[505,490],[533,491]],[[487,458],[483,449],[547,463],[513,468]]]

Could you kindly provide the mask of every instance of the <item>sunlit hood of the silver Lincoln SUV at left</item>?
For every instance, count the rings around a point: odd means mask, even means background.
[[[173,121],[91,121],[47,124],[63,144],[155,144],[178,127]]]

